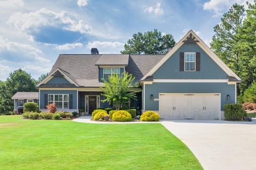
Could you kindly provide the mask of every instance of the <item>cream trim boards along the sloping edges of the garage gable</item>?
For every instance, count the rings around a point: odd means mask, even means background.
[[[151,69],[141,80],[145,80],[148,76],[153,75],[161,65],[163,65],[184,43],[182,42],[185,40],[190,33],[199,41],[197,45],[201,47],[207,55],[209,55],[212,60],[217,63],[223,71],[225,71],[229,76],[235,77],[237,80],[241,80],[225,63],[223,63],[220,58],[204,43],[204,41],[199,38],[193,30],[188,31],[188,33],[176,44],[169,53],[167,53],[163,59],[158,62],[153,69]]]

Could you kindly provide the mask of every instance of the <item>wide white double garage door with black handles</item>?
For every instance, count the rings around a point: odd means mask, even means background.
[[[167,120],[220,119],[220,94],[159,94],[159,114]]]

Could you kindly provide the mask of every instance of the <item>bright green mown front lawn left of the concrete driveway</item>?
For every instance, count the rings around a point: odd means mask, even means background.
[[[203,169],[161,124],[0,116],[1,169]]]

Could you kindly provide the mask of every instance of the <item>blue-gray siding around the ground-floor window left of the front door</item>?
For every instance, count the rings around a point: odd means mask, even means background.
[[[44,109],[45,94],[68,94],[73,95],[73,109],[77,109],[77,91],[76,90],[40,90],[40,109]]]

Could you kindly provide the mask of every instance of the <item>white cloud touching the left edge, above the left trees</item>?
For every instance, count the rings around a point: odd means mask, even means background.
[[[39,62],[49,62],[44,57],[40,56],[42,51],[29,45],[10,41],[3,36],[0,36],[0,58],[1,60],[14,60],[14,57],[25,57],[22,60],[34,59]]]

